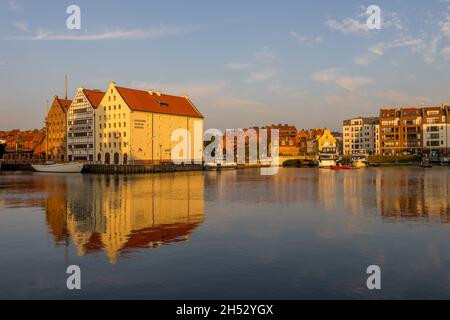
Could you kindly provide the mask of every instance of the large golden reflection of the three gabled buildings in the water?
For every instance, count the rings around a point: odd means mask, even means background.
[[[204,221],[204,177],[67,176],[49,188],[46,214],[58,244],[80,256],[105,251],[111,263],[136,248],[187,241]]]

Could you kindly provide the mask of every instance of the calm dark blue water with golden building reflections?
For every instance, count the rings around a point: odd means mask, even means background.
[[[449,168],[3,173],[0,221],[0,298],[450,298]]]

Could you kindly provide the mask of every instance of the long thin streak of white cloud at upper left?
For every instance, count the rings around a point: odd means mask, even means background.
[[[50,31],[38,30],[35,34],[24,37],[11,37],[12,40],[33,41],[100,41],[100,40],[135,40],[155,39],[184,34],[194,30],[193,27],[159,26],[152,29],[141,30],[114,30],[95,34],[59,34]]]

